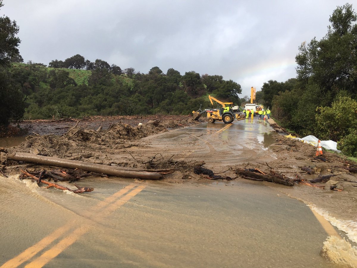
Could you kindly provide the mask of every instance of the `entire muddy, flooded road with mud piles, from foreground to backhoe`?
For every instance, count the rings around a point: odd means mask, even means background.
[[[75,195],[39,188],[31,180],[1,178],[0,211],[6,215],[1,217],[6,234],[0,239],[4,250],[0,263],[21,262],[19,267],[43,263],[66,267],[76,260],[90,267],[357,266],[356,174],[341,168],[346,160],[327,152],[326,161],[315,159],[315,147],[272,132],[268,120],[197,124],[175,119],[175,124],[166,121],[155,127],[141,119],[142,128],[108,126],[103,133],[95,132],[96,124],[84,131],[73,128],[75,122],[66,122],[65,136],[34,136],[7,150],[126,167],[148,159],[152,163],[204,161],[204,167],[233,180],[212,181],[182,168],[161,181],[89,177],[78,184],[95,190]],[[16,173],[24,165],[8,163],[4,171]],[[303,174],[301,167],[311,167],[316,174]],[[273,169],[290,178],[296,172],[305,178],[333,173],[344,190],[254,182],[238,176],[237,168]],[[33,228],[41,232],[32,232]],[[64,230],[59,237],[51,233],[58,229]],[[12,239],[17,246],[9,249]],[[48,245],[42,246],[46,241]],[[38,252],[31,255],[32,246]]]

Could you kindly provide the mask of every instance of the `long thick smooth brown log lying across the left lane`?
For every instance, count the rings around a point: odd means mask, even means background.
[[[122,178],[138,178],[148,180],[159,180],[163,176],[156,172],[147,171],[135,171],[135,170],[123,170],[120,167],[107,166],[102,164],[93,164],[76,160],[60,159],[55,157],[45,157],[42,155],[34,155],[28,153],[12,153],[7,155],[8,159],[16,161],[24,161],[41,165],[48,165],[54,167],[82,169],[85,171],[104,173],[107,175],[122,177]]]

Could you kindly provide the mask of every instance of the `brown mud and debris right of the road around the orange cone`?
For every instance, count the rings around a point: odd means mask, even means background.
[[[338,191],[357,190],[357,163],[325,149],[323,155],[317,157],[316,148],[310,144],[279,134],[275,134],[274,138],[276,143],[270,145],[269,149],[276,153],[277,159],[269,163],[249,163],[249,167],[243,165],[246,171],[260,168],[268,174],[273,170],[281,173],[284,180],[289,182],[320,189],[328,187]],[[239,167],[236,172],[237,170]]]

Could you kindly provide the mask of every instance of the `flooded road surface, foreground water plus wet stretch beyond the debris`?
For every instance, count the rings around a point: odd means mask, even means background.
[[[267,152],[270,130],[241,120],[145,139],[153,152],[201,155],[207,167],[225,170],[275,158]],[[311,193],[305,198],[299,187],[90,177],[85,184],[95,190],[74,194],[0,177],[0,267],[346,267],[321,254],[329,234],[306,205]]]

